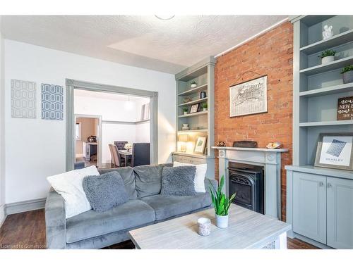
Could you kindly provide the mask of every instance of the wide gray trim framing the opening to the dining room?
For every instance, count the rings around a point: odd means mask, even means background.
[[[74,89],[150,97],[150,161],[158,163],[158,92],[66,79],[66,171],[73,170],[75,161]]]

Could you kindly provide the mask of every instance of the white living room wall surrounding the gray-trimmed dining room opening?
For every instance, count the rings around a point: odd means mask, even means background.
[[[6,203],[47,196],[46,177],[65,171],[64,121],[40,119],[40,84],[65,78],[159,93],[158,162],[174,151],[174,75],[5,40]],[[11,118],[11,79],[37,82],[37,119]]]

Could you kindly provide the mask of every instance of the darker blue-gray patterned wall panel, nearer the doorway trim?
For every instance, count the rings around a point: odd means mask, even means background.
[[[64,119],[64,92],[62,86],[42,84],[42,119]]]

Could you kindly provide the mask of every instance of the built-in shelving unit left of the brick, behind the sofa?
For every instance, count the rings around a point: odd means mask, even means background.
[[[191,164],[207,164],[206,176],[215,177],[215,154],[211,148],[214,142],[214,89],[215,58],[208,57],[175,75],[177,82],[177,126],[176,151],[172,152],[172,161]],[[196,84],[191,86],[191,84]],[[187,98],[187,100],[186,100]],[[203,109],[200,106],[207,106]],[[184,113],[184,107],[188,113]],[[188,124],[188,130],[184,128]],[[181,148],[179,136],[186,134],[186,149]],[[202,146],[196,145],[198,138],[204,138]],[[185,150],[185,151],[184,151]]]

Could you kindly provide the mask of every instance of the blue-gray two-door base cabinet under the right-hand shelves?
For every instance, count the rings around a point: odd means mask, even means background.
[[[353,249],[353,172],[288,165],[289,237],[322,248]]]

